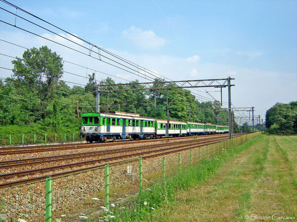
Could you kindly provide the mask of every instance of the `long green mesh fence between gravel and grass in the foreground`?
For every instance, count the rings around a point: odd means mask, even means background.
[[[0,221],[78,221],[112,218],[137,193],[162,183],[179,170],[198,164],[259,133],[179,153],[105,164],[94,169],[0,190]]]

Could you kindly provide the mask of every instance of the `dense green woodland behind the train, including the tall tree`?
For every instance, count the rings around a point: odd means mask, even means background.
[[[89,82],[85,87],[69,87],[61,81],[62,58],[47,46],[26,50],[22,58],[16,58],[12,64],[14,67],[11,77],[0,81],[2,127],[26,125],[43,127],[50,132],[78,131],[81,113],[96,111],[95,74],[89,75]],[[162,80],[155,79],[155,82]],[[138,83],[137,80],[134,82]],[[114,83],[109,77],[100,82]],[[156,108],[151,104],[154,96]],[[169,90],[168,100],[171,119],[188,121],[191,108],[193,122],[216,124],[219,118],[219,124],[228,125],[226,109],[222,109],[218,103],[198,102],[189,90]],[[166,90],[158,90],[156,93],[148,90],[109,93],[108,106],[107,93],[100,93],[100,111],[110,110],[136,111],[145,116],[166,119]]]

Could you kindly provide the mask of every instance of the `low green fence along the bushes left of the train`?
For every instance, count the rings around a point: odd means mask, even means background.
[[[81,140],[80,133],[19,134],[1,136],[0,145],[40,144]]]

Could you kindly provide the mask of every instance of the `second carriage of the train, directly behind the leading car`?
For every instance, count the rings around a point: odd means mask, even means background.
[[[167,120],[155,119],[156,138],[167,136]],[[177,120],[169,120],[169,136],[186,136],[187,123]]]

